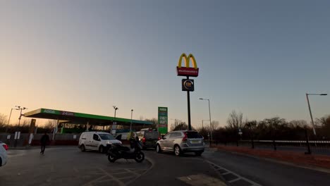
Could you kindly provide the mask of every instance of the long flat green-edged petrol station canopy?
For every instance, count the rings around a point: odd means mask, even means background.
[[[83,124],[83,125],[99,125],[106,126],[112,125],[114,117],[110,116],[98,116],[88,113],[77,113],[71,111],[58,111],[54,109],[37,109],[24,113],[27,118],[41,118],[59,120],[59,123],[71,123],[71,124]],[[145,120],[130,120],[126,118],[116,118],[117,125],[152,125],[151,122]]]

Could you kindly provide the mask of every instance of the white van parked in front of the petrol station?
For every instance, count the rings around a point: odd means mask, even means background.
[[[107,144],[121,144],[108,132],[82,132],[78,148],[81,151],[92,150],[105,153]]]

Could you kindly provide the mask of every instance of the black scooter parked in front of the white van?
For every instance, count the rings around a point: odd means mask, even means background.
[[[141,163],[145,159],[145,154],[141,151],[142,144],[138,137],[130,139],[130,148],[122,144],[111,144],[106,155],[111,163],[117,159],[134,159],[136,162]]]

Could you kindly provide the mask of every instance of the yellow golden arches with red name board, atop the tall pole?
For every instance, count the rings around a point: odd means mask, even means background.
[[[190,59],[191,62],[193,63],[193,67],[190,67],[189,65]],[[182,60],[185,61],[185,66],[182,66]],[[189,54],[187,56],[183,53],[180,56],[178,61],[178,66],[176,67],[176,72],[178,73],[178,76],[192,76],[192,77],[198,76],[197,63],[193,54]]]

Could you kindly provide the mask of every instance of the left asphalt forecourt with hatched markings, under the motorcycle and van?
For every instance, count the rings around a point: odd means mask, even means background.
[[[81,152],[77,147],[10,150],[6,166],[0,168],[0,185],[185,185],[179,178],[203,175],[220,178],[202,157],[157,154],[145,151],[150,161],[118,160],[105,154]],[[193,177],[192,177],[193,178]],[[136,180],[138,179],[138,180]],[[190,179],[190,178],[189,178]],[[198,177],[199,180],[207,180]],[[191,179],[190,179],[191,180]],[[219,185],[219,184],[218,184]]]

